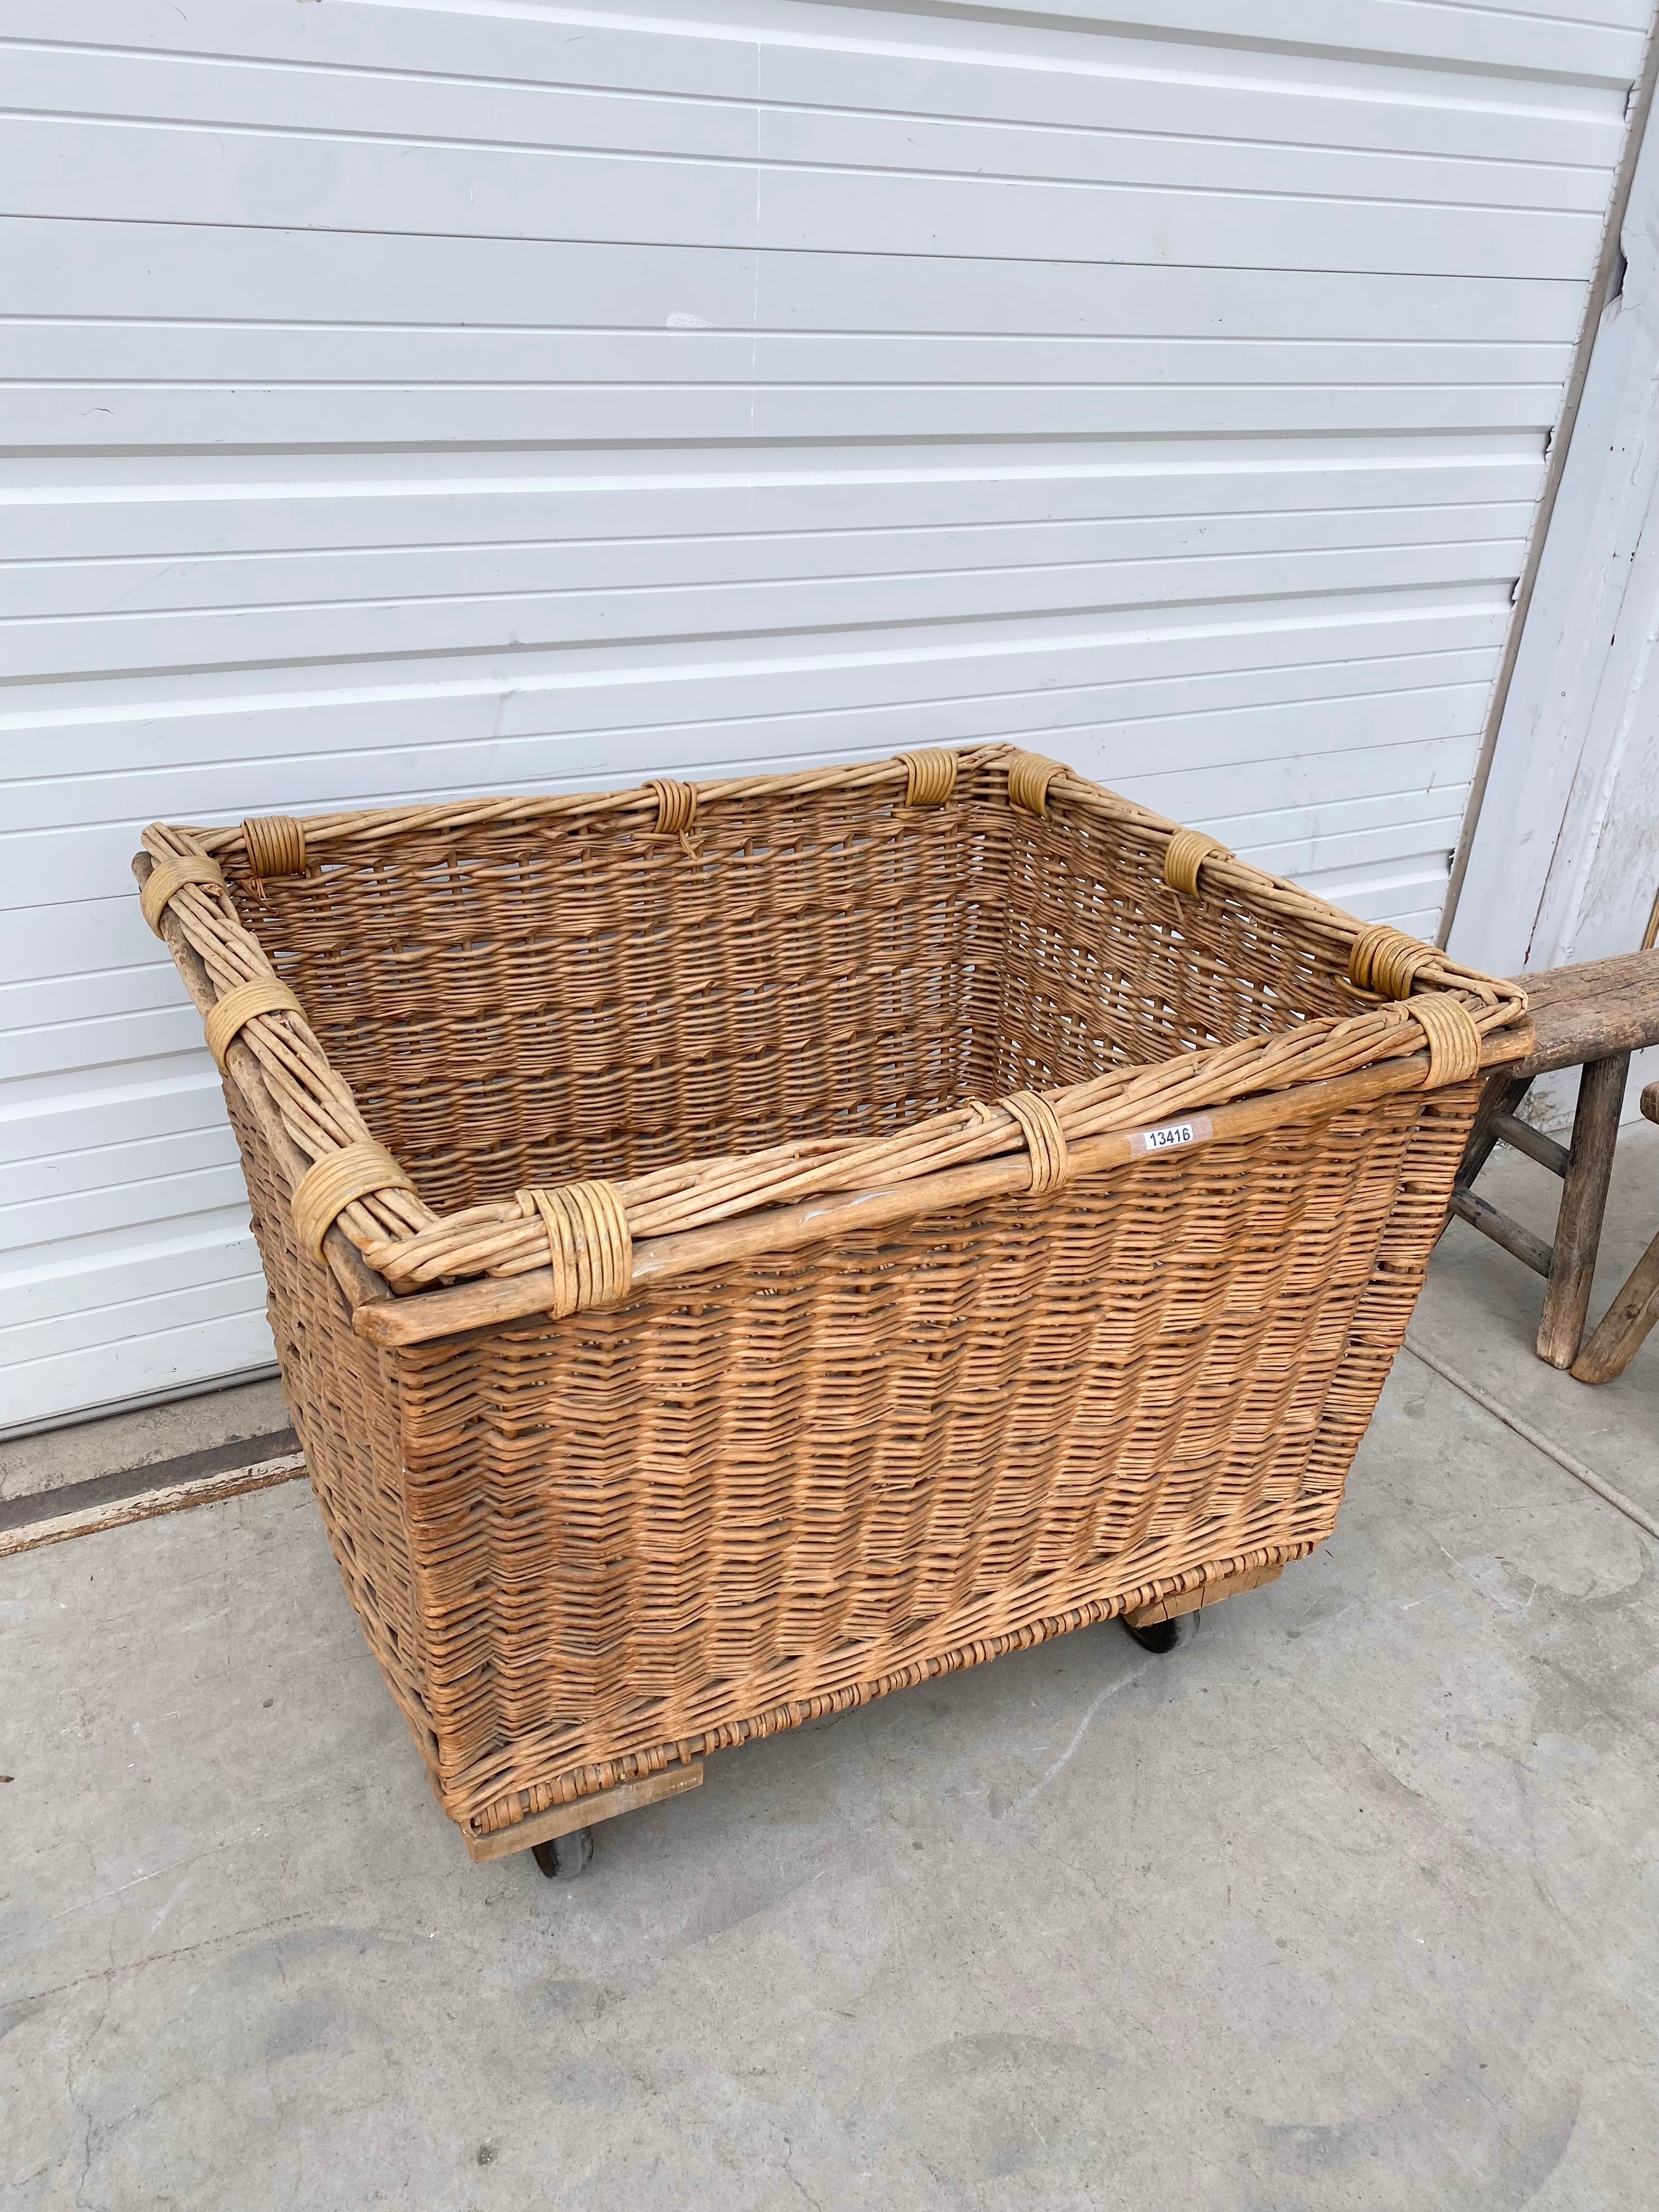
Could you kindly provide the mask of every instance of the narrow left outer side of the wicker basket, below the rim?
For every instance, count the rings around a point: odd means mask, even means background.
[[[429,1763],[427,1655],[403,1506],[396,1383],[352,1332],[334,1276],[301,1254],[288,1188],[234,1086],[230,1119],[265,1267],[265,1310],[283,1396],[305,1449],[323,1524],[363,1635]]]

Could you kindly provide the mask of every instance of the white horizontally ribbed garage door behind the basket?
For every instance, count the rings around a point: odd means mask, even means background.
[[[1648,0],[1102,18],[9,0],[0,1425],[270,1358],[153,816],[1015,737],[1433,929]]]

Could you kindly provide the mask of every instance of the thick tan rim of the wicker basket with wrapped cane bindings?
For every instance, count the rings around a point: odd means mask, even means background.
[[[947,807],[962,774],[978,779],[978,805],[1002,803],[1128,834],[1170,889],[1177,925],[1181,898],[1223,896],[1327,938],[1347,969],[1356,1011],[1115,1068],[1084,1084],[969,1102],[883,1137],[799,1139],[761,1152],[695,1157],[619,1183],[520,1192],[438,1214],[376,1144],[299,1000],[241,922],[219,867],[223,856],[259,883],[261,858],[265,876],[310,872],[330,858],[345,860],[347,847],[358,858],[363,845],[385,847],[431,830],[577,827],[606,816],[646,816],[641,825],[688,843],[692,827],[714,827],[703,810],[719,816],[743,799],[869,792],[916,810]],[[783,1250],[810,1234],[834,1234],[843,1221],[874,1225],[878,1217],[907,1219],[1000,1190],[1044,1190],[1066,1172],[1148,1157],[1161,1148],[1141,1141],[1148,1133],[1157,1139],[1183,1130],[1172,1139],[1183,1148],[1245,1124],[1283,1126],[1336,1110],[1347,1097],[1467,1079],[1526,1048],[1526,993],[1517,984],[1482,975],[1400,931],[1365,925],[1214,838],[1011,745],[774,776],[655,779],[619,792],[274,816],[234,827],[153,823],[142,847],[133,869],[146,918],[179,964],[226,1082],[237,1084],[274,1144],[305,1241],[334,1265],[354,1310],[396,1301],[398,1312],[378,1323],[358,1312],[361,1334],[385,1343],[447,1336],[511,1314],[617,1303],[630,1283],[686,1274],[739,1252]],[[270,854],[279,854],[276,865]],[[1040,1175],[1040,1164],[1055,1172]],[[597,1221],[595,1199],[582,1194],[599,1194]],[[832,1203],[803,1203],[812,1199]],[[599,1248],[606,1263],[593,1265]],[[580,1267],[573,1254],[582,1256]],[[420,1314],[411,1312],[416,1305]]]

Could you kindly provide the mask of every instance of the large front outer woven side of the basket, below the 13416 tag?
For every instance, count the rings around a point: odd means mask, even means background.
[[[1464,1091],[398,1354],[449,1809],[1323,1542]]]

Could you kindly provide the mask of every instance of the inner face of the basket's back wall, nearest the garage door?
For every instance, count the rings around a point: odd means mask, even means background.
[[[327,847],[246,925],[438,1212],[790,1137],[880,1135],[971,1088],[1004,805],[757,792],[690,849],[639,816]]]

